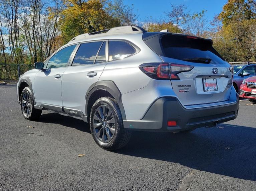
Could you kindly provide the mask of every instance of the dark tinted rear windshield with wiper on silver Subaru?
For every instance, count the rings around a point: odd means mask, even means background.
[[[186,36],[165,35],[162,37],[162,46],[167,57],[190,61],[200,62],[195,58],[210,58],[211,64],[225,64],[220,54],[212,47],[208,40],[191,39]]]

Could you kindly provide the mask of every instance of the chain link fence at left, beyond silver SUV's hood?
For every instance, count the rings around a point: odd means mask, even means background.
[[[20,75],[33,68],[32,64],[0,63],[0,80],[18,80]]]

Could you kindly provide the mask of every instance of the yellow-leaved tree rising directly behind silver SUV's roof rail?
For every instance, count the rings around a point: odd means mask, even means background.
[[[67,8],[62,11],[61,16],[63,43],[83,33],[120,26],[117,19],[107,14],[99,0],[72,0],[65,5]]]

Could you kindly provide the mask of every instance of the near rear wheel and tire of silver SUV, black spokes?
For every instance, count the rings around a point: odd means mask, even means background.
[[[93,104],[90,112],[90,130],[94,141],[105,150],[120,149],[131,138],[131,131],[123,127],[117,102],[109,97],[99,98]]]

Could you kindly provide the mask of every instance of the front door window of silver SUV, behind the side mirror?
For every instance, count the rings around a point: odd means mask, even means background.
[[[46,69],[52,69],[52,68],[60,68],[67,66],[67,62],[69,60],[69,57],[71,53],[73,52],[76,45],[71,45],[69,47],[63,48],[59,50],[57,53],[55,53],[50,59],[47,64]]]

